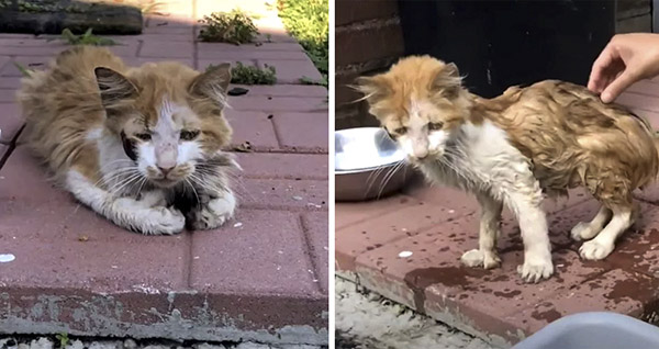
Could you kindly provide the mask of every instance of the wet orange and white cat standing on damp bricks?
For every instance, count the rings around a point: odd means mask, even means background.
[[[454,64],[406,57],[384,74],[358,79],[373,114],[432,182],[472,192],[482,209],[479,248],[467,266],[500,263],[503,204],[524,240],[518,272],[528,282],[554,273],[545,195],[584,187],[602,207],[571,232],[584,259],[603,259],[636,219],[632,192],[659,169],[650,125],[584,87],[547,80],[482,99],[461,86]]]

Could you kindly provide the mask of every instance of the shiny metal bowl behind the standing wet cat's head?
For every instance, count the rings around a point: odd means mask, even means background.
[[[410,178],[405,154],[380,127],[336,131],[334,140],[336,201],[384,198]]]

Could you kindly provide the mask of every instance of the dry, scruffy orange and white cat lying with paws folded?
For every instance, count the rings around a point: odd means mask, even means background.
[[[22,80],[26,139],[80,202],[119,226],[175,234],[232,217],[222,151],[230,66],[178,63],[129,68],[110,50],[77,47]]]

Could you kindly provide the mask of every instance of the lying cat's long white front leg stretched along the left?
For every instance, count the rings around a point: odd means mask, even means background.
[[[165,206],[165,199],[157,191],[145,193],[139,200],[115,198],[76,170],[67,173],[66,187],[80,202],[126,229],[170,235],[180,233],[186,224],[182,213]]]

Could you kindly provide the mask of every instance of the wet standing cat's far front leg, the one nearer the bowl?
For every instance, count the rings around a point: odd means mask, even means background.
[[[462,255],[461,262],[467,267],[495,268],[501,263],[496,255],[496,237],[500,234],[501,211],[503,203],[487,193],[477,194],[481,206],[478,249]]]

